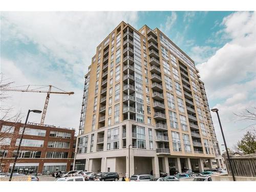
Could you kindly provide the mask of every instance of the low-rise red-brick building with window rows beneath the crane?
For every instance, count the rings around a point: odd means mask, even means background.
[[[0,121],[0,170],[11,172],[24,124]],[[52,173],[72,169],[74,129],[28,123],[14,173]]]

